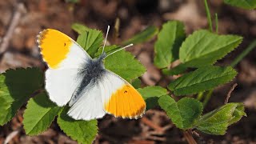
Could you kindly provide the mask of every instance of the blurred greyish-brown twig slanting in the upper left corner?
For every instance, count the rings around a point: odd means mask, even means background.
[[[4,38],[2,38],[2,43],[0,45],[0,55],[3,54],[7,47],[9,46],[10,38],[14,33],[15,27],[18,25],[18,22],[21,18],[21,15],[26,12],[26,8],[23,3],[18,3],[16,11],[14,13],[14,17],[12,18],[10,22],[9,29],[6,32],[6,35]]]

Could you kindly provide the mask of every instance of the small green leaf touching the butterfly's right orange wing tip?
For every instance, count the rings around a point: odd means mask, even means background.
[[[137,89],[140,94],[142,94],[142,97],[144,100],[147,98],[152,97],[161,97],[162,95],[166,95],[168,92],[165,88],[162,88],[161,86],[147,86],[144,88]]]

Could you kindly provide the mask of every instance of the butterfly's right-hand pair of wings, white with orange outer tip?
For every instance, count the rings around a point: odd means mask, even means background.
[[[102,118],[106,113],[115,117],[138,118],[144,114],[145,108],[146,103],[133,86],[106,70],[98,83],[90,83],[84,88],[68,114],[83,120]]]

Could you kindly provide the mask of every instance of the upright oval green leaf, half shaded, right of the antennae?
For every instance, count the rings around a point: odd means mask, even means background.
[[[165,68],[178,59],[178,50],[186,38],[182,22],[166,22],[158,33],[158,40],[154,44],[154,65]]]

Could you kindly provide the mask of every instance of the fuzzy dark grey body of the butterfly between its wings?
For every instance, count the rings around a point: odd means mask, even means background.
[[[82,64],[78,76],[77,81],[80,82],[78,88],[72,94],[72,98],[70,100],[70,106],[80,98],[82,91],[88,89],[88,86],[98,85],[97,82],[100,82],[106,69],[103,65],[103,59],[106,57],[106,54],[102,54],[98,58],[90,59]],[[78,79],[79,78],[79,79]]]

